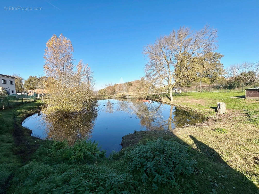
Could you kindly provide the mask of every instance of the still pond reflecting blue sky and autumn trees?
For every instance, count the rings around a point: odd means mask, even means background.
[[[201,123],[200,115],[173,105],[151,100],[97,100],[91,110],[81,114],[46,116],[34,114],[22,125],[41,139],[68,140],[79,138],[96,140],[106,155],[120,151],[123,136],[141,130],[173,130],[184,125]]]

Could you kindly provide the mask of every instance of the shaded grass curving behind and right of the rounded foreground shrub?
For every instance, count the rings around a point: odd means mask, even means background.
[[[229,166],[213,148],[197,140],[194,136],[190,135],[189,137],[196,145],[196,149],[191,149],[189,144],[186,144],[170,131],[159,133],[156,131],[137,131],[124,136],[122,144],[125,144],[123,147],[127,147],[135,144],[146,144],[148,141],[163,138],[167,141],[178,142],[183,149],[188,149],[188,155],[197,162],[197,168],[194,176],[183,180],[181,184],[183,193],[259,193],[259,189],[252,181]],[[127,141],[130,144],[126,145]],[[174,192],[172,190],[171,193]]]

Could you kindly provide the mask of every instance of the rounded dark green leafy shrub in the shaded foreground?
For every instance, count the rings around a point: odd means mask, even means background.
[[[154,190],[159,186],[178,187],[185,177],[194,173],[196,167],[187,148],[163,139],[139,145],[125,157],[128,170],[140,174],[144,185],[150,184]]]

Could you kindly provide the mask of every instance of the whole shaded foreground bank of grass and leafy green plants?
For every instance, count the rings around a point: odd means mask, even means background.
[[[16,171],[8,192],[259,193],[255,184],[229,166],[218,152],[193,136],[191,139],[195,148],[173,133],[139,131],[125,136],[124,141],[130,140],[131,146],[109,159],[96,155],[99,151],[94,144],[80,141],[70,148],[66,143],[47,141],[34,154],[32,162]],[[91,146],[95,151],[89,155]],[[180,168],[177,161],[182,162]],[[175,168],[173,173],[171,168]],[[183,171],[179,173],[179,169]],[[154,176],[161,176],[162,182],[154,180]],[[176,178],[175,185],[170,177]]]

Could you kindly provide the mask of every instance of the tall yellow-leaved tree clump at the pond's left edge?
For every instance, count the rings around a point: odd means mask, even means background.
[[[43,112],[81,112],[91,106],[93,73],[88,64],[75,65],[73,46],[69,39],[55,34],[46,43],[44,72],[48,77],[48,105]]]

